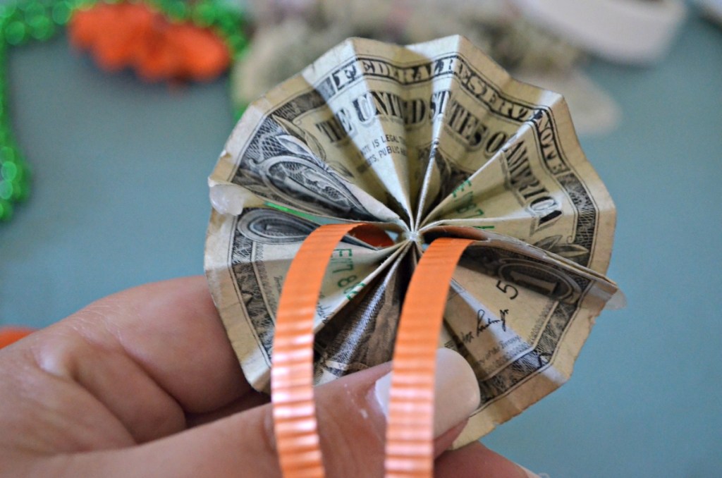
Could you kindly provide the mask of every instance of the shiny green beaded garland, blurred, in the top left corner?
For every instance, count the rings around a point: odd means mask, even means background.
[[[74,10],[89,8],[99,0],[18,0],[0,5],[0,221],[12,217],[14,203],[30,194],[30,170],[15,146],[9,120],[7,84],[4,76],[8,46],[29,40],[53,38],[58,27],[70,21]],[[125,0],[102,0],[108,4]],[[129,0],[137,1],[137,0]],[[245,18],[238,9],[216,0],[145,0],[175,22],[190,20],[209,27],[225,40],[232,58],[245,50]]]

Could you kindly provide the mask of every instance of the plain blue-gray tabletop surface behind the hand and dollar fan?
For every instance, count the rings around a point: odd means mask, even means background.
[[[65,38],[9,69],[34,182],[0,225],[0,325],[201,274],[226,79],[103,74]],[[552,478],[722,476],[722,29],[693,14],[658,66],[586,71],[623,109],[581,142],[617,203],[609,275],[629,305],[598,319],[569,383],[483,441]]]

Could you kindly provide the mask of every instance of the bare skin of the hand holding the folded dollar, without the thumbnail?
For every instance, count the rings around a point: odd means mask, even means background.
[[[316,388],[327,477],[383,476],[379,365]],[[203,277],[111,295],[0,349],[0,477],[280,477],[268,396],[248,385]],[[534,476],[481,443],[436,477]]]

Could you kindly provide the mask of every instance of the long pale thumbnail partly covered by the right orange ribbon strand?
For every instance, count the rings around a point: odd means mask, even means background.
[[[383,414],[388,418],[388,394],[391,373],[376,381],[375,395]],[[479,384],[464,357],[451,349],[436,351],[434,384],[434,436],[438,437],[463,422],[479,407]]]

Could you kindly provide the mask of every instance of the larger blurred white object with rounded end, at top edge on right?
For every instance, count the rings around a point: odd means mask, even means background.
[[[685,15],[684,4],[677,0],[516,0],[516,4],[531,19],[586,51],[635,64],[662,58]]]

